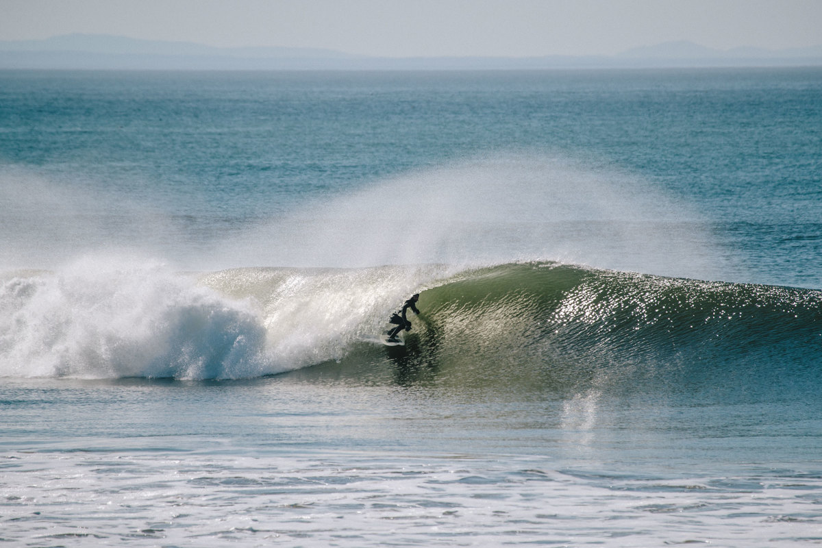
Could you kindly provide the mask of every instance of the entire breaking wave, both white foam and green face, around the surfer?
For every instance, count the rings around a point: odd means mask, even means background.
[[[178,274],[90,261],[2,278],[0,375],[224,379],[393,360],[517,390],[818,385],[813,290],[558,263]],[[414,291],[406,346],[367,342]]]

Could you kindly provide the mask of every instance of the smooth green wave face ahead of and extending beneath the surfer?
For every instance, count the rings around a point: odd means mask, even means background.
[[[342,363],[367,375],[387,354],[411,383],[520,397],[805,389],[819,375],[820,297],[554,263],[499,265],[424,291],[404,348],[354,351]]]

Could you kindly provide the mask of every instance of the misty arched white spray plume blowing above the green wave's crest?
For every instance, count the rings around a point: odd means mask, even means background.
[[[559,260],[707,279],[718,253],[699,221],[612,166],[509,154],[318,200],[226,242],[217,255],[315,267]]]

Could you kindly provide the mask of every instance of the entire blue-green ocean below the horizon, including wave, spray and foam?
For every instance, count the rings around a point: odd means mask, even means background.
[[[0,71],[0,543],[820,544],[820,289],[818,67]]]

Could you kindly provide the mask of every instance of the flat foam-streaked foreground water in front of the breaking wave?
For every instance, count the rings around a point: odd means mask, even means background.
[[[363,380],[320,369],[253,381],[5,383],[2,537],[24,546],[819,541],[815,404],[545,397],[506,394],[500,380],[469,397],[432,389],[432,371],[376,367]]]

